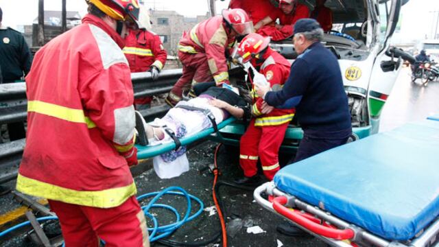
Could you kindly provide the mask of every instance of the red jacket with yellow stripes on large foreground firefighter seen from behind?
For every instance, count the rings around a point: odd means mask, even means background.
[[[126,161],[136,157],[130,68],[115,30],[90,14],[82,22],[42,47],[26,77],[27,139],[16,189],[117,207],[136,193]]]

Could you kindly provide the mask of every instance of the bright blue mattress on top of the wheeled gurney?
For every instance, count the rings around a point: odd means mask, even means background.
[[[285,193],[389,240],[411,239],[439,215],[439,121],[424,120],[288,165]]]

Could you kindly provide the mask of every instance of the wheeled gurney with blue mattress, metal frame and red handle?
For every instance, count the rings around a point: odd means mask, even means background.
[[[436,115],[288,165],[254,198],[332,246],[439,246],[438,152]]]

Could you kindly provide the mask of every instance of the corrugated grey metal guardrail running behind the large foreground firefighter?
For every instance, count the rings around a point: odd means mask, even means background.
[[[160,73],[157,80],[151,80],[150,72],[132,73],[134,97],[144,97],[167,93],[182,75],[181,69],[169,69]],[[154,106],[141,110],[145,119],[163,116],[169,106]],[[27,99],[25,82],[0,84],[0,124],[25,121]],[[0,184],[14,180],[23,155],[25,139],[0,143]]]

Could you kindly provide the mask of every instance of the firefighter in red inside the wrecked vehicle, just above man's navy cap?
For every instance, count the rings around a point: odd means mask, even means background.
[[[272,40],[284,40],[293,35],[294,23],[298,19],[309,18],[307,5],[298,3],[297,0],[279,0],[280,10],[270,14],[267,18],[254,25],[258,34],[270,36]],[[280,25],[274,23],[279,19]],[[270,23],[270,24],[268,24]]]

